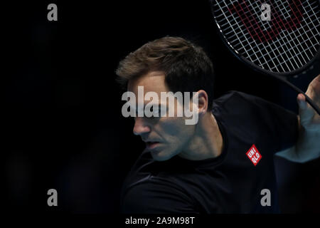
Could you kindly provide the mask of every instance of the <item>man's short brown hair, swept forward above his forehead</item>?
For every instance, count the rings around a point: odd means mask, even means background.
[[[150,71],[164,71],[165,82],[176,93],[205,90],[208,110],[213,105],[213,64],[203,51],[181,37],[165,36],[129,53],[120,61],[116,74],[122,86]]]

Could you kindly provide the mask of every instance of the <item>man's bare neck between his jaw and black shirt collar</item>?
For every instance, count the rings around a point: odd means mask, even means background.
[[[204,160],[218,157],[222,150],[223,138],[218,123],[208,112],[199,120],[193,138],[179,156],[188,160]]]

